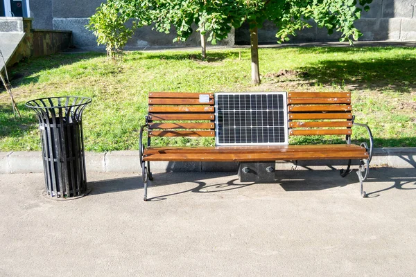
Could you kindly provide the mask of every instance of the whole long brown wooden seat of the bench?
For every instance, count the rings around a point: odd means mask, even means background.
[[[363,146],[352,144],[216,147],[149,147],[144,161],[276,161],[368,159]]]

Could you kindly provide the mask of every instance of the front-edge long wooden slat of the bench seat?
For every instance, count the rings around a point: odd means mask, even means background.
[[[277,161],[277,160],[316,160],[316,159],[367,159],[368,153],[332,151],[332,152],[279,152],[279,153],[221,153],[191,154],[166,153],[145,154],[144,161]]]

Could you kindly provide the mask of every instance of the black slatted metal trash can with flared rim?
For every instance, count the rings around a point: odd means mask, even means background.
[[[63,96],[26,102],[39,118],[46,194],[69,198],[87,192],[83,111],[91,98]]]

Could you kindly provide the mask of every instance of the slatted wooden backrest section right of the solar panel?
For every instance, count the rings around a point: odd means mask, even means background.
[[[349,92],[288,92],[289,135],[351,135]]]

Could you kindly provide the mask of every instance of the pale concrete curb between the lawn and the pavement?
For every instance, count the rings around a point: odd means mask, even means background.
[[[86,152],[87,172],[141,172],[139,151]],[[216,162],[153,162],[153,172],[236,172],[238,163]],[[345,166],[345,161],[278,161],[277,170],[320,170]],[[375,148],[372,167],[416,168],[416,148]],[[0,173],[42,173],[42,153],[0,152]]]

